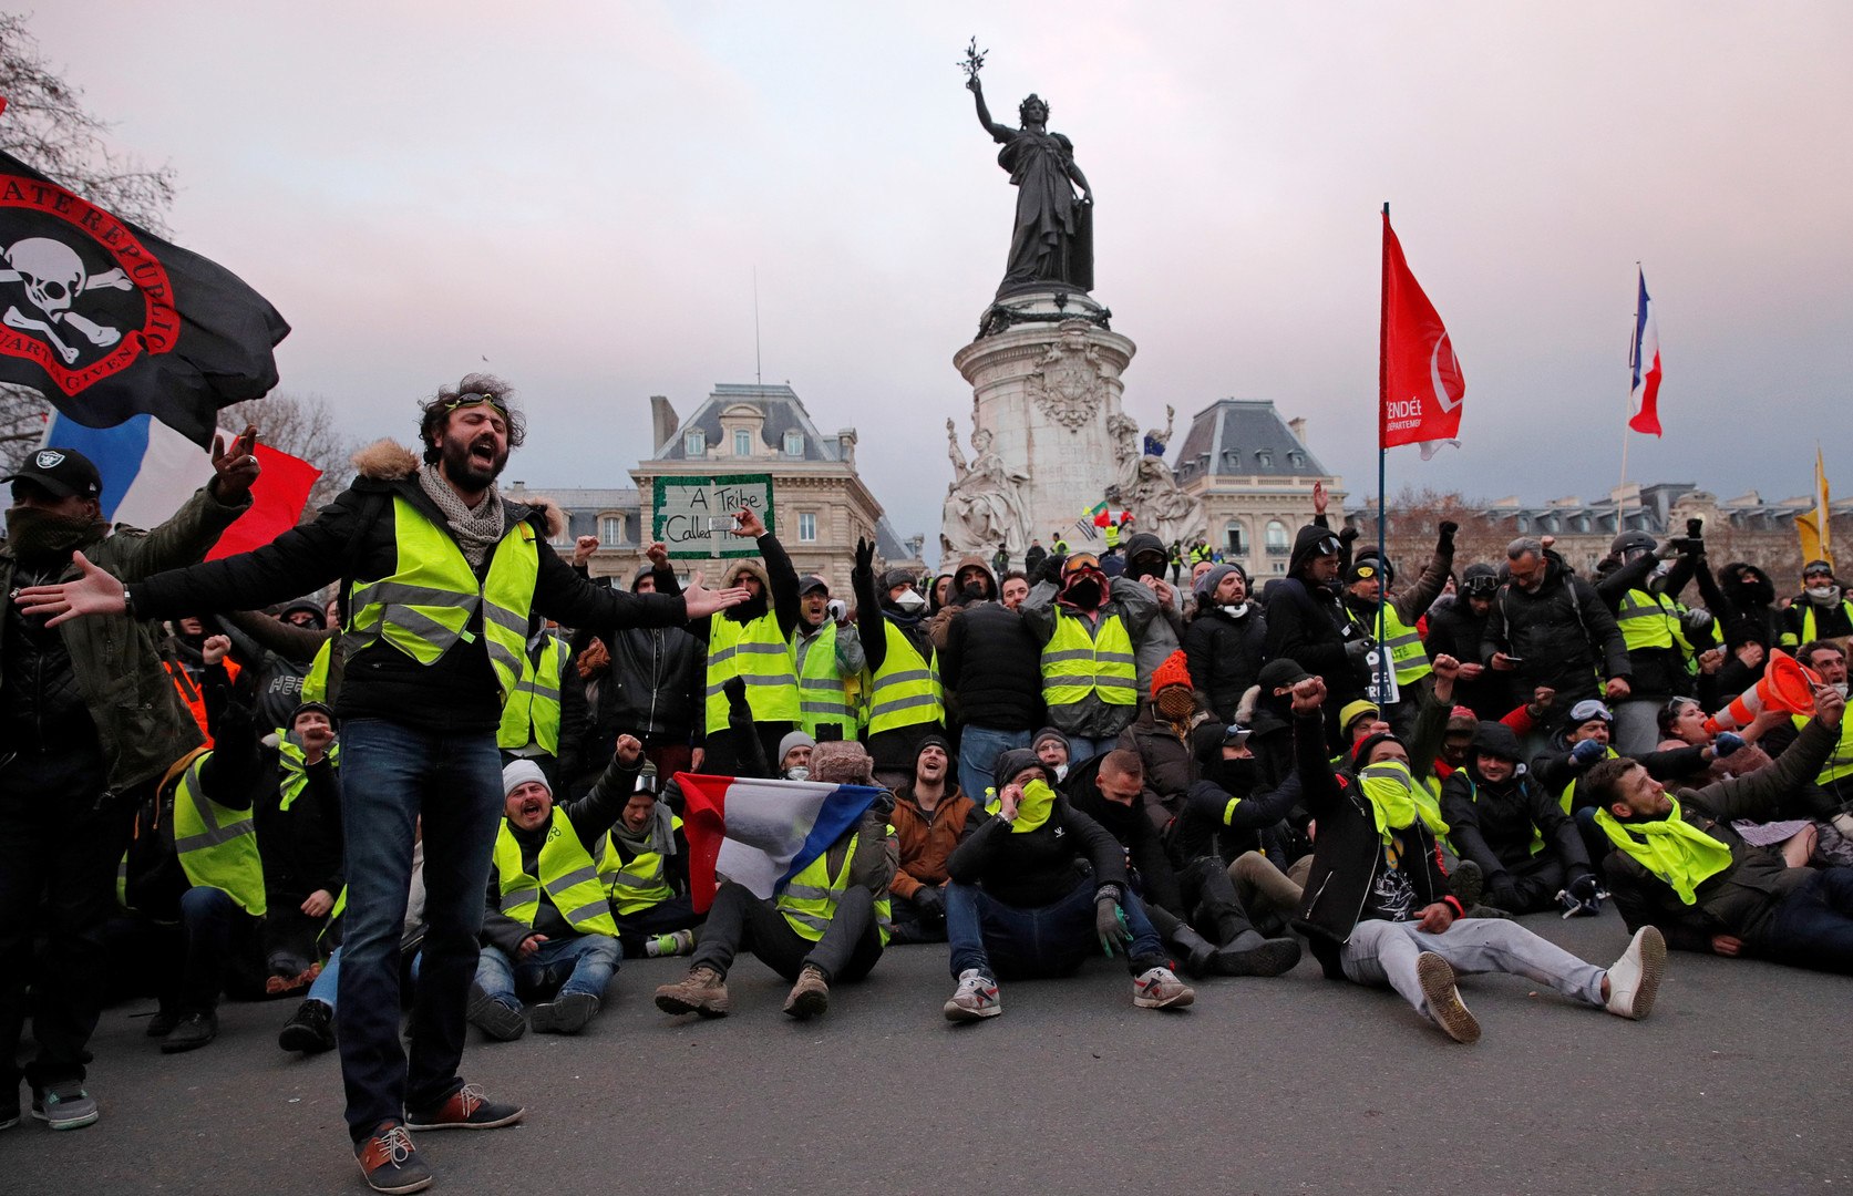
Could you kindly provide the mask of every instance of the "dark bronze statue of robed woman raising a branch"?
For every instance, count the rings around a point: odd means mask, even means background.
[[[965,87],[978,102],[978,124],[1004,146],[997,165],[1010,172],[1017,189],[1010,263],[997,296],[1051,285],[1093,291],[1093,189],[1075,165],[1075,144],[1049,131],[1049,104],[1041,96],[1023,100],[1017,106],[1021,128],[1010,128],[991,120],[977,70],[969,70]],[[1078,198],[1075,187],[1080,187]]]

